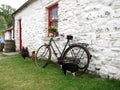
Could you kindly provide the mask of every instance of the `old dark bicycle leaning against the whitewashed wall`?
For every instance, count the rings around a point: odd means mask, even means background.
[[[63,61],[64,63],[74,63],[77,64],[80,68],[80,74],[83,74],[88,66],[91,59],[91,54],[86,48],[88,44],[86,43],[74,43],[71,44],[70,40],[73,40],[72,35],[67,35],[67,42],[62,50],[58,48],[53,37],[50,38],[48,44],[44,44],[40,46],[36,52],[36,64],[37,66],[42,66],[45,68],[51,61],[52,51],[57,61]],[[56,50],[59,52],[60,56],[56,53]]]

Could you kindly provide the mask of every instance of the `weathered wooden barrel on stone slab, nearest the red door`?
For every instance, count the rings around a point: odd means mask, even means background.
[[[15,52],[15,41],[14,40],[5,40],[4,44],[5,52]]]

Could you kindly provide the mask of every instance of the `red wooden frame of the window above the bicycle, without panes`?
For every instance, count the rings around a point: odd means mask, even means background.
[[[53,20],[51,20],[51,11],[53,10],[53,9],[55,9],[55,8],[58,8],[58,4],[55,4],[55,5],[53,5],[53,6],[51,6],[51,7],[49,7],[48,8],[48,28],[50,27],[50,26],[52,26],[51,24],[52,23],[54,23],[54,22],[57,22],[58,23],[58,19],[53,19]],[[57,13],[58,14],[58,13]],[[48,36],[49,36],[49,31],[48,31]]]

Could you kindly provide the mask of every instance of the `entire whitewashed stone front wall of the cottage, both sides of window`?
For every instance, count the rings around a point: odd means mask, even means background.
[[[86,42],[93,55],[89,71],[103,78],[120,79],[120,0],[37,0],[15,16],[22,19],[23,45],[37,50],[47,37],[47,7],[58,2],[60,34],[72,34],[74,42]],[[61,39],[61,38],[60,38]],[[58,43],[65,42],[61,39]]]

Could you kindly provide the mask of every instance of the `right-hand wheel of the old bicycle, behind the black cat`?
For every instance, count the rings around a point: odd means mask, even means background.
[[[78,72],[82,75],[89,66],[90,56],[87,48],[74,44],[66,49],[63,55],[63,62],[77,64],[79,68]]]

